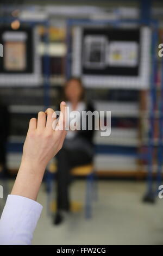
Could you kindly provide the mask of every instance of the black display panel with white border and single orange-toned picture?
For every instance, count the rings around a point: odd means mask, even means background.
[[[37,86],[41,64],[37,53],[39,37],[36,28],[16,31],[0,28],[3,58],[0,63],[0,86]]]

